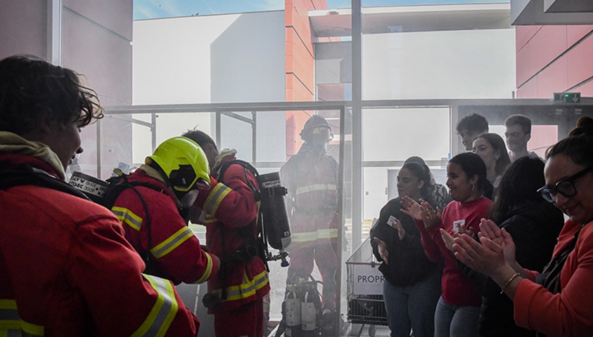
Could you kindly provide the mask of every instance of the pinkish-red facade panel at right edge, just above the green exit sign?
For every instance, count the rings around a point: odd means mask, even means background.
[[[568,51],[564,58],[568,64],[566,88],[593,77],[593,35]]]

